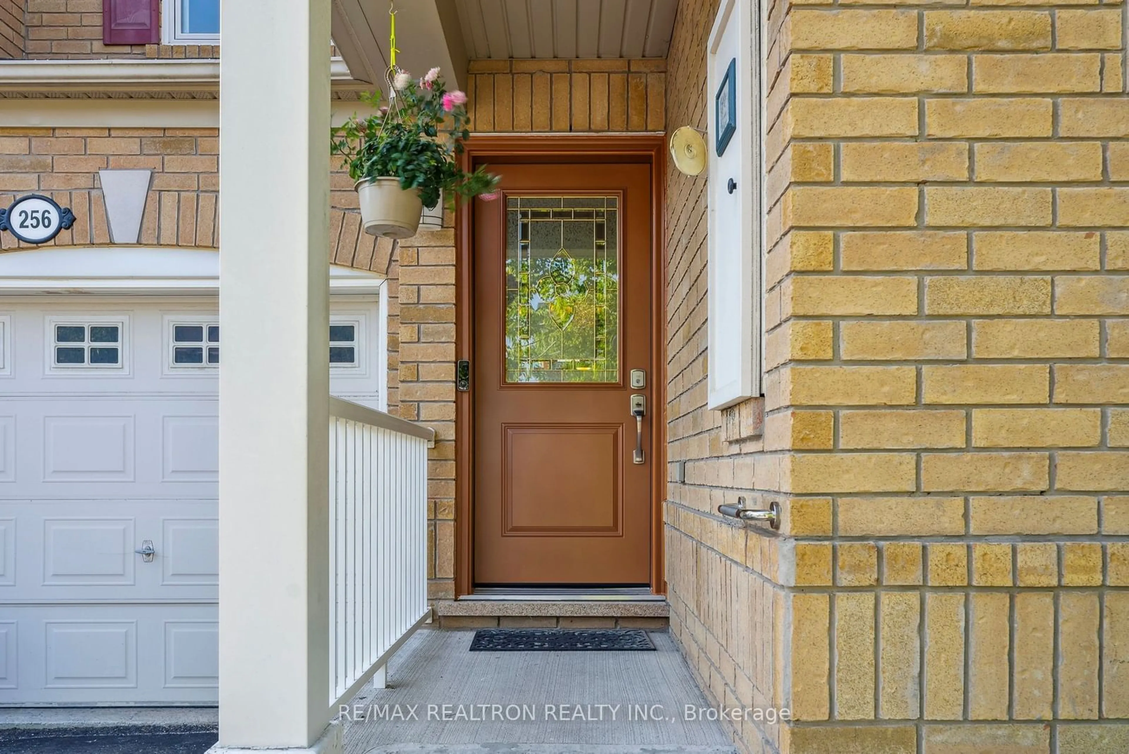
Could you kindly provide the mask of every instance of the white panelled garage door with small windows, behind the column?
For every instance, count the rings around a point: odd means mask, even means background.
[[[380,322],[334,301],[373,407]],[[0,704],[215,703],[216,299],[0,299]]]

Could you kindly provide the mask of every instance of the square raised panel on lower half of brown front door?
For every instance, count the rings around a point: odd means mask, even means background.
[[[502,535],[619,536],[619,424],[505,424]]]

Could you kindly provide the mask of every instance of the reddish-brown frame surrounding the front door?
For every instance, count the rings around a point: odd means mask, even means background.
[[[639,134],[474,134],[462,156],[475,163],[645,163],[650,165],[651,362],[650,590],[666,594],[663,501],[666,498],[666,137]],[[478,200],[476,200],[478,201]],[[458,205],[455,220],[455,359],[474,356],[474,204]],[[455,392],[455,598],[474,590],[474,383]]]

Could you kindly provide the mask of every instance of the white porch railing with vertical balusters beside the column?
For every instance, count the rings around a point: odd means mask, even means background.
[[[423,624],[435,431],[330,398],[330,700],[336,711]]]

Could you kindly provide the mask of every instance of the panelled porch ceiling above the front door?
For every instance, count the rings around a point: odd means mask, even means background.
[[[455,0],[476,58],[665,58],[677,0]]]

